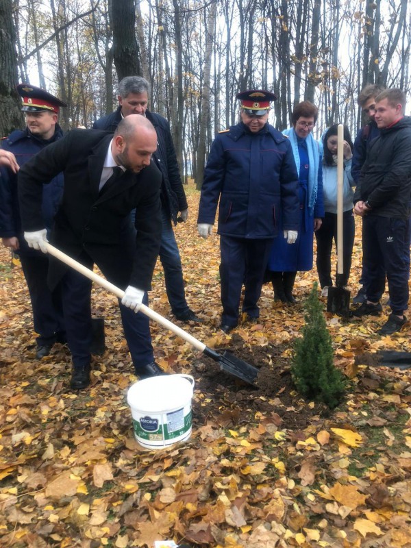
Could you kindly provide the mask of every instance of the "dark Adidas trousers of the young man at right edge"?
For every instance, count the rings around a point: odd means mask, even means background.
[[[390,307],[401,315],[408,309],[410,223],[408,219],[366,215],[362,219],[362,253],[369,272],[366,297],[376,303],[388,280]]]

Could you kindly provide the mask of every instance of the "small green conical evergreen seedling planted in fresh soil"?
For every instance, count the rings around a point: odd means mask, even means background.
[[[343,397],[345,379],[334,366],[332,340],[317,297],[317,284],[308,297],[304,318],[303,336],[295,341],[292,379],[303,397],[334,408]]]

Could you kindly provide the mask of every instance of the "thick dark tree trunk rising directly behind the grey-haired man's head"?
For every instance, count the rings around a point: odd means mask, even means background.
[[[112,0],[110,22],[113,31],[114,66],[119,81],[126,76],[141,75],[134,0]]]

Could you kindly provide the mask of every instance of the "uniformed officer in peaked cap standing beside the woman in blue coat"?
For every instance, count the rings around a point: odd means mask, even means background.
[[[241,121],[219,132],[212,143],[197,221],[200,236],[207,238],[220,199],[220,327],[225,333],[238,325],[242,284],[242,312],[249,321],[257,321],[264,271],[280,221],[290,243],[299,225],[291,145],[268,121],[270,103],[277,97],[265,90],[247,90],[236,98],[241,101]]]

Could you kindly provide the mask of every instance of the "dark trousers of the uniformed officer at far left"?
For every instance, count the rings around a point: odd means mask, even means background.
[[[49,258],[41,251],[38,251],[38,255],[21,253],[19,257],[32,302],[34,331],[38,333],[37,345],[64,343],[66,329],[61,292],[58,288],[51,291],[47,285]]]

